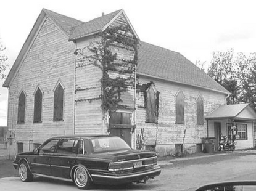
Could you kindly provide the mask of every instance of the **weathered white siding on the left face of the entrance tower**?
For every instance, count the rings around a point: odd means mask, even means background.
[[[102,134],[101,99],[97,99],[101,95],[102,70],[85,58],[92,55],[86,47],[100,40],[96,36],[77,42],[77,49],[83,50],[83,55],[76,56],[75,134]]]

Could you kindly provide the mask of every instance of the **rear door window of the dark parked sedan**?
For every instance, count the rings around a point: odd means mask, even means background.
[[[57,145],[56,153],[76,153],[77,142],[75,139],[61,139]]]

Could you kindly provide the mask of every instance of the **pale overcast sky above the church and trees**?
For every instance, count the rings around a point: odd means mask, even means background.
[[[256,52],[256,1],[0,0],[0,41],[10,70],[43,8],[87,22],[123,9],[142,41],[180,52],[195,63],[212,52]],[[7,125],[8,89],[0,82],[0,126]]]

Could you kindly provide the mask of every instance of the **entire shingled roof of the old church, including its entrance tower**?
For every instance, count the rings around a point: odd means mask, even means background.
[[[40,23],[43,22],[43,18],[45,16],[49,17],[52,22],[59,26],[60,30],[67,34],[69,40],[75,41],[76,39],[83,38],[85,36],[101,33],[110,25],[110,23],[114,22],[115,18],[120,14],[124,15],[126,22],[131,26],[131,23],[126,17],[123,9],[107,15],[102,15],[101,17],[90,20],[89,22],[82,22],[65,15],[57,14],[51,10],[43,9],[38,20],[36,20],[30,35],[28,35],[20,54],[15,60],[15,63],[3,86],[9,87],[21,60],[25,56],[25,52],[27,52],[36,31],[40,26]],[[131,29],[133,30],[134,35],[138,38],[133,26],[131,26]],[[206,75],[203,71],[199,70],[196,65],[180,53],[173,52],[159,46],[154,46],[149,43],[144,43],[142,41],[140,41],[138,46],[139,75],[147,75],[154,78],[165,79],[174,83],[187,84],[229,94],[224,87],[220,86],[220,84]]]

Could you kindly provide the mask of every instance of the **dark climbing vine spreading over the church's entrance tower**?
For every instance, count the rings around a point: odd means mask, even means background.
[[[102,99],[103,110],[113,111],[126,107],[120,104],[123,102],[121,95],[129,86],[135,86],[135,70],[138,62],[138,39],[134,38],[130,31],[131,28],[127,25],[107,28],[101,33],[100,40],[91,42],[83,49],[76,49],[75,54],[79,54],[76,67],[94,65],[102,70],[101,95],[79,101],[90,102]],[[126,54],[122,54],[124,51]],[[75,92],[83,90],[76,87]]]

